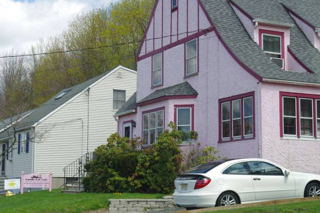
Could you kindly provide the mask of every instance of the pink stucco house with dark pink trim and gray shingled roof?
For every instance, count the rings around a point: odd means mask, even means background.
[[[174,121],[223,157],[320,174],[319,11],[318,0],[157,0],[119,134],[152,145]]]

